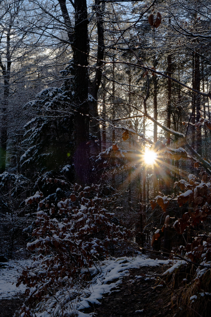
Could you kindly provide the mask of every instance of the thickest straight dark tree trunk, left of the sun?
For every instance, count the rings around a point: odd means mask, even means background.
[[[88,104],[88,56],[87,56],[87,5],[86,0],[75,0],[75,30],[73,61],[75,68],[74,101],[76,152],[75,172],[79,184],[89,183],[89,104]]]

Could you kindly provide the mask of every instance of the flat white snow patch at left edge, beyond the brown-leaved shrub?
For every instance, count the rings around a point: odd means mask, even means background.
[[[17,293],[24,293],[26,287],[21,284],[16,287],[17,278],[23,268],[31,263],[30,260],[0,262],[0,299],[10,299],[17,296]]]

